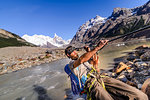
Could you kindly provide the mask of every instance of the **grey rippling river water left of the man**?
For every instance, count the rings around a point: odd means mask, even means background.
[[[64,100],[68,59],[0,76],[0,100]]]

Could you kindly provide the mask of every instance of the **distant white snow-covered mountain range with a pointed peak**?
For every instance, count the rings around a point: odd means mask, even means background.
[[[71,39],[67,41],[63,40],[61,37],[57,36],[56,33],[54,35],[54,38],[37,34],[33,36],[25,34],[22,36],[22,38],[30,43],[33,43],[41,47],[62,47],[64,45],[69,44],[71,41]]]

